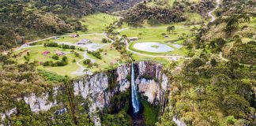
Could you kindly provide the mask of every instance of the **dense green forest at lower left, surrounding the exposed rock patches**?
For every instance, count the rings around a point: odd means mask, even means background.
[[[55,73],[36,70],[36,63],[17,64],[9,56],[0,55],[0,113],[16,108],[17,113],[6,117],[1,124],[5,125],[92,125],[88,116],[88,104],[85,100],[73,98],[69,78]],[[53,87],[59,87],[55,96],[62,106],[52,107],[47,112],[33,113],[24,102],[24,97],[36,93],[40,96],[49,92],[50,101]],[[70,101],[70,98],[73,100]],[[20,99],[20,100],[18,100]],[[83,104],[81,104],[83,103]],[[59,112],[61,109],[63,113]],[[61,113],[61,114],[60,114]]]

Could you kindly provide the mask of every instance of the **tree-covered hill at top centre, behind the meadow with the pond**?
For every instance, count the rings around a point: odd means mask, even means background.
[[[171,22],[182,22],[186,20],[186,17],[183,15],[184,13],[200,13],[201,15],[205,15],[211,8],[213,8],[213,2],[210,1],[201,1],[199,3],[175,2],[173,6],[165,7],[147,6],[146,2],[144,2],[123,13],[122,17],[124,17],[123,21],[133,26],[141,25],[144,20],[147,20],[152,25],[170,24]]]

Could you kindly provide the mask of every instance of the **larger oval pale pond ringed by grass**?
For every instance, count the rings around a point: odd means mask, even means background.
[[[152,53],[166,53],[174,50],[171,46],[163,43],[135,43],[134,49]]]

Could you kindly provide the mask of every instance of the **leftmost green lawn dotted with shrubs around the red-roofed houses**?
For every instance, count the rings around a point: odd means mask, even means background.
[[[27,50],[29,52],[29,54],[30,54],[30,56],[29,56],[30,60],[29,61],[30,62],[32,62],[32,61],[39,61],[39,62],[54,61],[55,62],[55,61],[60,61],[62,59],[62,56],[59,57],[59,60],[54,60],[54,59],[51,58],[53,55],[55,55],[56,50],[61,50],[57,47],[44,47],[44,46],[29,47],[29,48],[26,48],[26,49],[15,52],[15,54],[20,54],[24,50]],[[45,50],[49,50],[50,54],[47,54],[47,56],[44,56],[42,53]],[[62,50],[62,51],[65,52],[66,57],[68,57],[68,61],[69,61],[68,65],[61,66],[61,67],[51,67],[51,66],[44,67],[43,65],[40,65],[40,66],[38,66],[38,69],[45,69],[47,71],[55,72],[58,75],[62,75],[62,76],[67,75],[67,76],[74,77],[72,72],[76,71],[77,69],[80,69],[80,68],[75,62],[73,62],[73,59],[78,61],[83,57],[82,56],[81,57],[75,57],[75,55],[70,52],[71,50]],[[75,51],[77,53],[81,53],[81,51],[79,51],[79,50],[75,50]],[[25,62],[25,59],[24,59],[25,55],[27,55],[26,52],[22,53],[21,56],[15,58],[15,59],[17,59],[17,61],[19,63],[24,63]]]

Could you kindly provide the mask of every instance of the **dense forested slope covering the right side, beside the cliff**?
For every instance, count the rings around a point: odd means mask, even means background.
[[[187,125],[256,124],[256,25],[254,11],[248,10],[254,6],[248,3],[254,2],[224,1],[216,11],[219,18],[190,39],[192,59],[175,72],[159,125],[173,125],[172,117]]]

